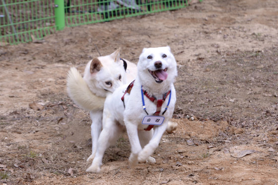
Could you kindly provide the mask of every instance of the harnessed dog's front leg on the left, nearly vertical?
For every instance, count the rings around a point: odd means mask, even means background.
[[[142,150],[138,137],[138,126],[130,121],[126,121],[127,133],[131,144],[131,155],[129,161],[131,165],[138,163],[138,154]]]

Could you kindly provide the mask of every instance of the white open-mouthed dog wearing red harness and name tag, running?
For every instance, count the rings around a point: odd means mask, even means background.
[[[130,163],[155,163],[150,155],[157,148],[175,107],[173,83],[177,64],[169,47],[145,48],[137,67],[134,83],[128,89],[127,86],[118,88],[105,100],[103,129],[87,172],[100,172],[105,150],[125,128],[131,143]]]

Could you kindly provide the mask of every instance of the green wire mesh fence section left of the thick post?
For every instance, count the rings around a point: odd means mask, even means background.
[[[0,0],[0,45],[42,39],[55,28],[53,0]]]

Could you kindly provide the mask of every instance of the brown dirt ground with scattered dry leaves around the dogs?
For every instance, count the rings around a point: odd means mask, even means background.
[[[134,63],[144,47],[171,47],[179,126],[163,135],[156,164],[131,167],[124,134],[102,172],[85,173],[91,121],[67,95],[66,78],[98,56],[95,45],[102,55],[121,47]],[[0,182],[278,184],[278,1],[194,1],[1,47]]]

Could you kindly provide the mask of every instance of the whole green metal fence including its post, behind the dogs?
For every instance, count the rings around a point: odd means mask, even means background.
[[[111,21],[187,5],[188,0],[0,0],[0,45],[39,40],[65,26]]]

